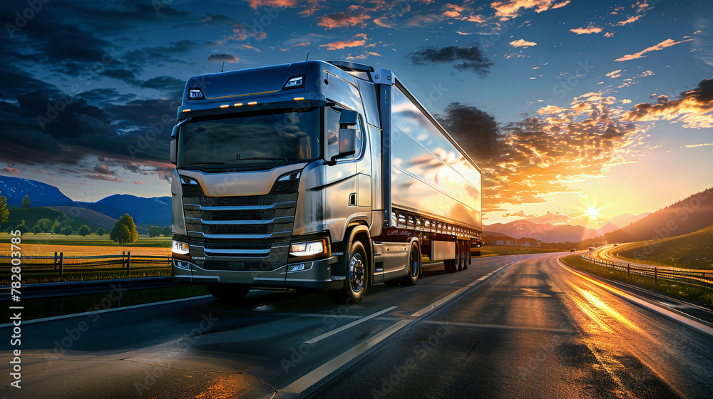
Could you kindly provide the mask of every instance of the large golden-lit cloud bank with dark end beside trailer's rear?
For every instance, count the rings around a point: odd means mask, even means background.
[[[535,116],[504,125],[472,105],[451,103],[438,119],[481,167],[483,210],[492,212],[573,192],[573,183],[642,156],[647,127],[622,118],[615,102],[587,93],[569,108],[543,106]]]

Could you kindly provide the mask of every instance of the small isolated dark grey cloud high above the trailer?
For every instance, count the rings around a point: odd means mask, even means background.
[[[423,48],[409,53],[411,61],[418,65],[431,65],[434,63],[454,63],[453,68],[458,71],[471,71],[484,78],[490,73],[491,66],[495,65],[478,46],[443,48]]]

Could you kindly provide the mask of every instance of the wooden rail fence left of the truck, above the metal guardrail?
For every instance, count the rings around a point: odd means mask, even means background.
[[[4,261],[7,259],[7,261]],[[0,256],[0,277],[11,274],[13,257]],[[171,257],[160,255],[97,255],[91,257],[65,257],[63,252],[55,252],[53,257],[22,257],[22,273],[58,273],[60,278],[70,271],[118,271],[144,270],[169,267]]]

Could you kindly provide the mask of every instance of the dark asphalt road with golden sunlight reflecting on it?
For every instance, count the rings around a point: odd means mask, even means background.
[[[369,287],[358,306],[261,291],[241,306],[202,298],[25,322],[21,389],[4,326],[0,396],[713,397],[711,336],[558,256],[436,266],[413,287]]]

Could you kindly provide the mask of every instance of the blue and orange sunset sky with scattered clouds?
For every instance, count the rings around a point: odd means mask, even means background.
[[[34,8],[33,8],[34,7]],[[3,1],[0,175],[170,195],[190,76],[389,68],[483,171],[484,223],[597,228],[713,185],[707,1]]]

